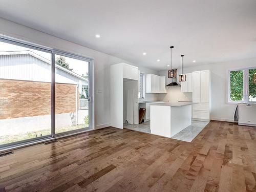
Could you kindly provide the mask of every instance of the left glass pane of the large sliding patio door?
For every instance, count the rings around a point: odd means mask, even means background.
[[[51,52],[0,41],[0,146],[51,135]]]

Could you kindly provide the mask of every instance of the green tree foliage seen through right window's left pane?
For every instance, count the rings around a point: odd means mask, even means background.
[[[230,99],[232,101],[243,100],[244,71],[230,71]]]

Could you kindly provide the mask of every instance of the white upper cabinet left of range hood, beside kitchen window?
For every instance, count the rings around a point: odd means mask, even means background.
[[[166,93],[165,76],[146,74],[146,93]]]

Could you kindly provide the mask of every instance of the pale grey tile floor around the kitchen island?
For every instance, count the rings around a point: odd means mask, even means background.
[[[204,129],[204,127],[209,122],[204,121],[192,121],[192,124],[188,127],[186,127],[184,130],[173,136],[173,139],[181,140],[181,141],[187,141],[191,142],[193,139]],[[123,128],[144,132],[144,133],[151,133],[150,130],[150,121],[141,123],[139,125],[136,124],[123,124]]]

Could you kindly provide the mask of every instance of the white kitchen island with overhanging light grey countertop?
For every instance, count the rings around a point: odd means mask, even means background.
[[[150,106],[151,133],[173,137],[191,125],[191,106],[197,102],[166,102]]]

